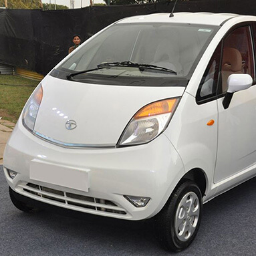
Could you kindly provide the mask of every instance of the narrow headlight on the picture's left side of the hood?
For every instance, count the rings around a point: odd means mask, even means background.
[[[41,104],[41,100],[43,98],[43,88],[41,84],[37,86],[34,90],[33,94],[30,96],[27,104],[23,109],[22,114],[22,123],[27,130],[33,132],[35,126],[35,119],[37,118],[37,112],[39,110],[39,106]]]

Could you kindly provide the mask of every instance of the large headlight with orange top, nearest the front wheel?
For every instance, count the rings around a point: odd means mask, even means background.
[[[156,138],[168,126],[179,100],[160,100],[141,108],[126,126],[118,146],[145,144]]]

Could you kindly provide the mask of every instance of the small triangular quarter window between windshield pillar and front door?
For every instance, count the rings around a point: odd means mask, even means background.
[[[216,98],[221,62],[221,43],[215,49],[197,91],[197,103],[203,104]]]

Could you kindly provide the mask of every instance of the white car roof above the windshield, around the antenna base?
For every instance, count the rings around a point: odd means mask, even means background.
[[[221,25],[225,21],[241,15],[234,13],[154,13],[150,15],[140,15],[128,17],[118,21],[118,23],[190,23],[201,25]]]

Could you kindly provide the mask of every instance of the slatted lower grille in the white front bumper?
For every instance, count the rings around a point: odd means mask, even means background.
[[[78,208],[79,211],[82,209],[88,209],[91,211],[104,211],[106,213],[126,215],[126,211],[124,211],[124,209],[118,207],[118,205],[112,201],[105,199],[96,199],[94,197],[66,193],[61,190],[55,190],[53,188],[47,188],[45,186],[39,186],[32,183],[19,184],[18,186],[26,193],[36,197],[41,197],[41,199],[45,199],[45,201],[55,201],[63,205],[70,205]]]

